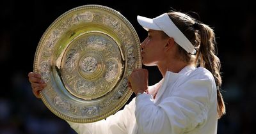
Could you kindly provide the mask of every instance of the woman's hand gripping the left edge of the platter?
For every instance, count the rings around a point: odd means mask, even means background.
[[[46,87],[46,84],[44,80],[42,80],[41,75],[38,73],[30,72],[28,73],[28,77],[29,82],[31,83],[33,94],[36,96],[36,98],[41,98],[39,93]]]

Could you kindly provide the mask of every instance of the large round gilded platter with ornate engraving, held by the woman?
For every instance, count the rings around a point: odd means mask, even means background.
[[[104,119],[131,96],[127,78],[141,68],[140,41],[120,13],[99,5],[67,11],[45,31],[34,59],[47,83],[45,105],[76,123]]]

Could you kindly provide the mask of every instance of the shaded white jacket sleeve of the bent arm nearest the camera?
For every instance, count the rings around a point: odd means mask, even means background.
[[[137,96],[135,116],[138,128],[144,133],[179,134],[204,124],[210,98],[216,97],[212,96],[212,85],[211,78],[190,79],[175,87],[158,105],[154,105],[150,94]]]

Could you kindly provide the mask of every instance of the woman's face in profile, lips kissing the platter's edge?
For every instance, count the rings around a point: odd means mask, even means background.
[[[146,66],[156,66],[164,59],[164,46],[168,38],[164,39],[162,31],[148,30],[147,38],[141,43],[141,59]]]

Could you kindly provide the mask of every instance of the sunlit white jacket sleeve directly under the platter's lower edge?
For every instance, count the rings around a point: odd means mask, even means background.
[[[124,110],[116,112],[109,116],[106,120],[97,121],[95,123],[72,123],[67,121],[79,134],[94,134],[94,133],[127,133],[132,129],[131,118],[134,119],[134,104],[135,98],[125,105]]]

